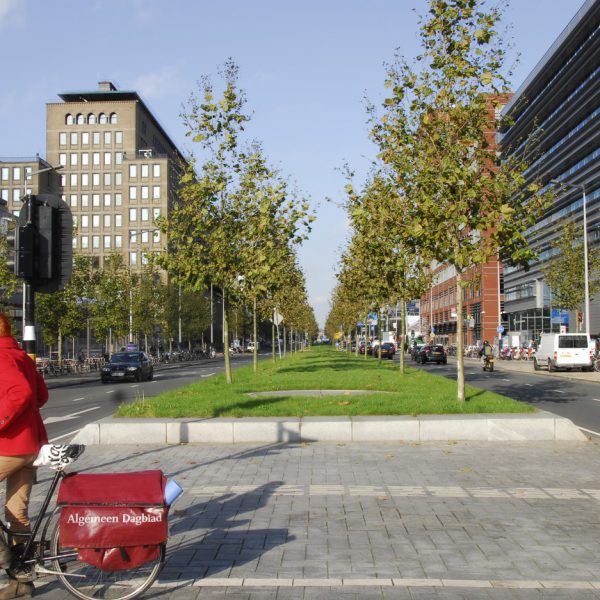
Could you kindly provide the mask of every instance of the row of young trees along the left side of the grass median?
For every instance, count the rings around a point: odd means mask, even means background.
[[[238,66],[228,60],[220,74],[220,94],[208,77],[202,78],[182,114],[200,156],[192,155],[185,165],[179,200],[157,223],[169,240],[157,264],[186,289],[216,286],[226,307],[248,307],[254,340],[258,322],[273,320],[275,311],[288,329],[316,335],[296,255],[314,214],[308,201],[269,164],[261,144],[243,139],[250,115]],[[225,348],[230,345],[229,329],[225,310]],[[231,383],[229,353],[224,355],[226,380]],[[255,344],[255,370],[257,361]]]

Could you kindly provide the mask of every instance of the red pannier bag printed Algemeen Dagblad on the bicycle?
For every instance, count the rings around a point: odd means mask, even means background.
[[[162,471],[66,475],[58,490],[61,548],[106,571],[138,567],[167,541]]]

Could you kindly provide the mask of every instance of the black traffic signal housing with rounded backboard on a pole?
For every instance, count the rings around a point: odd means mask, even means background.
[[[73,218],[53,194],[29,195],[19,213],[17,275],[36,292],[62,290],[71,278]]]

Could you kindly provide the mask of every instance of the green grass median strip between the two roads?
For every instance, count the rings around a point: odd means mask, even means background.
[[[400,375],[398,364],[364,356],[355,357],[331,347],[313,347],[288,355],[275,364],[259,362],[233,371],[234,383],[224,375],[125,404],[117,417],[307,417],[330,415],[427,415],[473,413],[526,413],[535,408],[472,386],[467,401],[456,400],[456,383],[407,366]],[[301,396],[289,390],[366,390],[369,394]],[[280,392],[249,396],[257,392]]]

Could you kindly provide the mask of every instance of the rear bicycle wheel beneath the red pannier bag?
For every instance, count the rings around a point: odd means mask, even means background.
[[[56,524],[50,544],[53,570],[56,577],[71,594],[82,600],[130,600],[143,594],[158,577],[165,562],[165,544],[159,556],[139,567],[123,571],[104,571],[77,559],[77,550],[61,548],[59,527]]]

